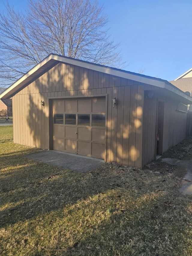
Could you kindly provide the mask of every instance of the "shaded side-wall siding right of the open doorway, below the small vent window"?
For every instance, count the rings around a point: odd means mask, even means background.
[[[186,137],[187,113],[178,111],[179,102],[165,101],[163,152]]]

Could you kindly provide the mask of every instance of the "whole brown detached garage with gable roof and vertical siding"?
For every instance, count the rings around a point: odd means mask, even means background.
[[[192,98],[166,80],[49,55],[0,95],[13,140],[135,167],[186,136]]]

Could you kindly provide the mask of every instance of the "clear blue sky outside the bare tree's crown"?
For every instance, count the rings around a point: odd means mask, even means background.
[[[4,1],[6,2],[6,1]],[[0,11],[3,10],[0,0]],[[27,0],[9,0],[16,9]],[[174,80],[192,68],[191,0],[99,0],[109,18],[109,33],[121,42],[125,70]]]

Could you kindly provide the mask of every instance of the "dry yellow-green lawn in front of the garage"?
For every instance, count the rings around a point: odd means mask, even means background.
[[[0,255],[192,255],[184,168],[159,160],[76,173],[23,157],[38,149],[13,144],[12,127],[0,137]]]

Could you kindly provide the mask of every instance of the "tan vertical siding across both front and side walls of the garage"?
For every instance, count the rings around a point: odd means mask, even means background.
[[[146,101],[144,86],[139,84],[59,63],[13,97],[14,142],[49,149],[48,97],[107,94],[105,160],[141,167],[155,155],[157,99]],[[113,108],[114,97],[118,104]],[[41,100],[45,101],[45,108],[41,108]],[[176,104],[165,103],[163,150],[185,136],[186,115],[175,111],[175,107]]]

